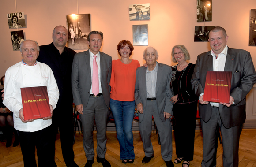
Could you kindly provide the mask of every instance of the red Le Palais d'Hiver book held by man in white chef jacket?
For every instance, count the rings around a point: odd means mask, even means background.
[[[24,120],[51,116],[46,86],[20,88]]]

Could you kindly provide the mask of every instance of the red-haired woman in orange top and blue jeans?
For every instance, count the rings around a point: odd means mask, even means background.
[[[135,154],[132,135],[132,120],[135,110],[134,89],[138,60],[130,59],[133,46],[130,41],[122,40],[117,45],[121,59],[112,61],[110,79],[110,109],[112,111],[120,145],[122,163],[133,163]]]

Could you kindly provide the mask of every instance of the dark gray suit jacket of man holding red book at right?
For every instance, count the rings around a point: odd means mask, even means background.
[[[206,73],[213,71],[211,51],[197,56],[196,67],[191,84],[197,96],[204,92]],[[255,69],[249,52],[241,49],[228,48],[224,71],[232,72],[230,96],[235,105],[227,107],[219,104],[219,113],[226,128],[241,125],[245,122],[245,96],[256,82]],[[211,118],[211,104],[199,103],[199,116],[205,122]]]

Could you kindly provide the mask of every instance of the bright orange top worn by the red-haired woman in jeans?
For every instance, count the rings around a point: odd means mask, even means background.
[[[140,67],[138,60],[124,64],[120,59],[112,61],[112,74],[110,79],[113,100],[134,101],[136,70]]]

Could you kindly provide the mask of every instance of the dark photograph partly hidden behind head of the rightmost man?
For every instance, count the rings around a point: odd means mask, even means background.
[[[195,26],[194,42],[208,42],[209,33],[215,26]]]

